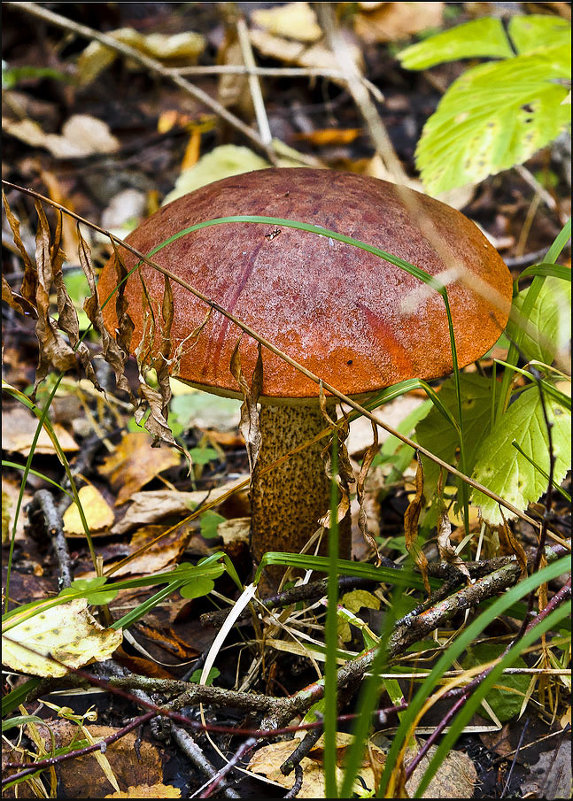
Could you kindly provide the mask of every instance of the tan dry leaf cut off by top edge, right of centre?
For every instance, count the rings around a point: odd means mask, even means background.
[[[365,6],[362,3],[361,6]],[[427,28],[439,28],[445,3],[375,3],[354,17],[354,30],[367,43],[394,42]]]

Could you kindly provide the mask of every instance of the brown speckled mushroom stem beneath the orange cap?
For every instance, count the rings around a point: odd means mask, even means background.
[[[266,551],[298,553],[319,527],[330,506],[330,480],[315,442],[259,478],[259,471],[325,428],[318,403],[272,406],[260,412],[261,448],[251,483],[251,550],[260,561]],[[349,515],[339,526],[340,558],[350,558]],[[327,552],[323,539],[321,553]],[[284,571],[270,570],[277,579]]]

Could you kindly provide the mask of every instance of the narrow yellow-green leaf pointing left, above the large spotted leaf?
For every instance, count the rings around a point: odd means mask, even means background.
[[[483,17],[407,47],[398,58],[406,69],[425,70],[460,58],[507,58],[513,55],[501,20]]]

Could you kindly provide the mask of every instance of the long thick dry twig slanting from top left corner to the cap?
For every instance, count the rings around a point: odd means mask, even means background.
[[[32,14],[33,16],[44,20],[44,22],[49,22],[50,24],[56,25],[59,28],[63,28],[64,30],[71,31],[78,36],[82,36],[84,39],[100,42],[106,47],[109,47],[111,50],[114,50],[116,53],[121,53],[121,55],[133,59],[151,72],[161,75],[163,78],[167,78],[176,86],[178,86],[179,89],[190,95],[194,100],[197,100],[207,108],[211,109],[211,111],[213,111],[217,116],[221,117],[221,119],[225,120],[225,122],[228,122],[229,125],[232,125],[233,128],[236,128],[238,131],[240,131],[240,133],[242,133],[242,135],[253,145],[263,150],[265,155],[271,158],[273,162],[276,161],[274,152],[268,152],[268,148],[265,147],[261,137],[255,131],[253,131],[252,128],[250,128],[248,125],[245,125],[245,123],[239,119],[239,117],[228,111],[223,105],[221,105],[221,103],[208,95],[207,92],[204,92],[202,89],[199,89],[199,87],[194,86],[177,72],[167,69],[160,61],[144,55],[134,47],[130,47],[130,45],[119,42],[117,39],[114,39],[113,36],[108,36],[105,33],[96,31],[94,28],[89,28],[87,25],[81,25],[78,22],[74,22],[66,17],[62,17],[60,14],[56,14],[43,6],[38,5],[37,3],[7,2],[4,5],[9,6],[17,11],[25,11],[28,14]]]

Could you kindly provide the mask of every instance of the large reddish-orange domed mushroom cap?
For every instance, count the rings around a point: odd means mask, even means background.
[[[148,254],[196,223],[231,215],[280,217],[354,237],[445,280],[458,364],[478,359],[507,322],[510,273],[495,248],[463,214],[411,189],[354,173],[284,168],[217,181],[164,206],[127,242]],[[128,270],[137,258],[122,253]],[[114,289],[114,259],[99,281],[103,301]],[[444,301],[400,267],[327,235],[284,225],[231,222],[185,234],[151,259],[215,301],[325,382],[360,395],[408,378],[452,371]],[[163,275],[140,267],[161,341]],[[243,375],[250,378],[257,342],[218,311],[172,282],[171,373],[194,386],[238,396],[231,374],[240,341]],[[134,324],[132,352],[149,337],[149,303],[137,271],[125,298]],[[114,302],[104,309],[110,331]],[[196,329],[203,324],[200,332]],[[195,336],[190,336],[195,331]],[[145,333],[144,333],[145,332]],[[316,383],[262,349],[261,399],[316,398]]]

